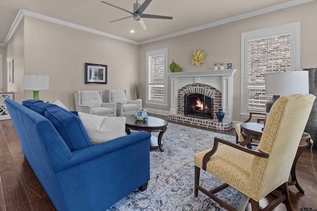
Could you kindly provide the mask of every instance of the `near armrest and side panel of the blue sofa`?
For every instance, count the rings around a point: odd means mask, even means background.
[[[105,210],[150,180],[150,136],[145,131],[72,152],[54,168],[69,210]]]

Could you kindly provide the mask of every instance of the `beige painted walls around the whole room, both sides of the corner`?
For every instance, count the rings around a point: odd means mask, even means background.
[[[125,88],[128,98],[135,98],[134,84],[140,76],[145,102],[146,52],[167,47],[168,63],[174,59],[183,71],[211,70],[216,61],[233,63],[233,68],[238,69],[234,77],[233,119],[242,122],[241,33],[301,21],[301,68],[317,67],[316,8],[317,1],[313,1],[140,46],[25,16],[3,57],[5,65],[14,59],[14,84],[7,84],[7,89],[14,91],[15,100],[21,102],[32,98],[31,90],[22,89],[22,75],[49,75],[50,89],[41,90],[40,98],[50,102],[59,99],[75,109],[75,90]],[[189,58],[195,49],[207,53],[200,68]],[[108,84],[84,84],[85,62],[108,65]],[[3,73],[7,78],[8,67],[3,67]],[[169,111],[169,107],[144,107]]]

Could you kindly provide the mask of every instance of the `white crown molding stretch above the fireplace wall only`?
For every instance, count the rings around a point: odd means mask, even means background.
[[[234,21],[237,21],[237,20],[242,20],[242,19],[245,19],[245,18],[250,18],[250,17],[253,17],[253,16],[257,16],[257,15],[261,15],[261,14],[264,14],[264,13],[272,12],[272,11],[275,11],[275,10],[284,9],[284,8],[291,7],[291,6],[296,6],[296,5],[299,5],[299,4],[302,4],[302,3],[307,3],[307,2],[310,2],[310,1],[314,1],[314,0],[290,0],[290,1],[287,1],[287,2],[284,2],[284,3],[268,6],[268,7],[262,8],[262,9],[254,10],[254,11],[247,12],[247,13],[244,13],[244,14],[241,14],[241,15],[236,15],[236,16],[233,16],[233,17],[230,17],[230,18],[225,18],[225,19],[222,19],[222,20],[219,20],[219,21],[215,21],[215,22],[211,22],[211,23],[208,23],[208,24],[205,24],[205,25],[201,25],[201,26],[198,26],[198,27],[194,27],[194,28],[183,30],[183,31],[175,32],[175,33],[172,33],[172,34],[164,35],[164,36],[161,36],[161,37],[157,37],[157,38],[154,38],[154,39],[142,41],[142,42],[140,42],[140,44],[146,44],[146,43],[150,43],[150,42],[156,42],[156,41],[164,40],[164,39],[167,39],[167,38],[172,38],[172,37],[177,37],[177,36],[180,36],[180,35],[185,35],[185,34],[188,34],[188,33],[200,31],[200,30],[203,30],[203,29],[208,29],[208,28],[211,28],[211,27],[214,27],[214,26],[225,24],[225,23],[230,23],[230,22],[234,22]]]

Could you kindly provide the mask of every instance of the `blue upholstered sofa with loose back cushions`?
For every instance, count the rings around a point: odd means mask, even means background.
[[[92,145],[74,113],[37,100],[5,104],[22,152],[58,211],[102,211],[147,188],[150,133]]]

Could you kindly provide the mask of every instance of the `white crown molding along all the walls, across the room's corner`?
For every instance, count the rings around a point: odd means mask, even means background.
[[[244,13],[244,14],[241,14],[241,15],[236,15],[236,16],[233,16],[233,17],[230,17],[230,18],[226,18],[226,19],[223,19],[223,20],[211,22],[209,24],[205,24],[205,25],[201,25],[201,26],[198,26],[198,27],[186,29],[186,30],[175,32],[175,33],[172,33],[172,34],[160,36],[160,37],[157,37],[157,38],[154,38],[154,39],[145,40],[145,41],[142,41],[142,42],[129,40],[129,39],[126,39],[126,38],[122,38],[122,37],[111,35],[111,34],[108,34],[108,33],[105,33],[105,32],[101,32],[101,31],[98,31],[98,30],[95,30],[95,29],[84,27],[84,26],[81,26],[81,25],[78,25],[78,24],[74,24],[74,23],[70,23],[70,22],[67,22],[67,21],[59,20],[59,19],[56,19],[56,18],[53,18],[53,17],[49,17],[49,16],[46,16],[46,15],[42,15],[42,14],[39,14],[39,13],[36,13],[36,12],[30,12],[28,10],[20,9],[18,14],[17,14],[17,16],[16,16],[16,18],[15,18],[15,20],[14,20],[14,22],[13,22],[13,24],[12,24],[12,26],[11,26],[11,29],[10,29],[8,35],[6,36],[4,42],[0,43],[0,45],[1,46],[5,46],[9,42],[9,40],[13,36],[16,28],[19,26],[21,20],[23,19],[24,15],[27,15],[27,16],[30,16],[30,17],[34,17],[34,18],[38,18],[38,19],[45,20],[45,21],[49,21],[49,22],[52,22],[52,23],[68,26],[68,27],[75,28],[75,29],[78,29],[78,30],[94,33],[94,34],[97,34],[97,35],[105,36],[105,37],[108,37],[108,38],[120,40],[120,41],[123,41],[123,42],[129,42],[129,43],[132,43],[132,44],[141,45],[141,44],[146,44],[146,43],[150,43],[150,42],[156,42],[156,41],[164,40],[164,39],[167,39],[167,38],[172,38],[172,37],[176,37],[176,36],[180,36],[180,35],[196,32],[196,31],[200,31],[200,30],[203,30],[203,29],[208,29],[208,28],[211,28],[211,27],[214,27],[214,26],[225,24],[225,23],[230,23],[230,22],[233,22],[233,21],[242,20],[244,18],[249,18],[249,17],[253,17],[253,16],[256,16],[256,15],[261,15],[261,14],[264,14],[264,13],[267,13],[267,12],[272,12],[272,11],[279,10],[279,9],[284,9],[284,8],[287,8],[287,7],[296,6],[296,5],[299,5],[299,4],[302,4],[302,3],[311,2],[311,1],[314,1],[314,0],[290,0],[290,1],[286,1],[284,3],[268,6],[268,7],[262,8],[262,9],[258,9],[258,10],[251,11],[251,12],[247,12],[247,13]]]

